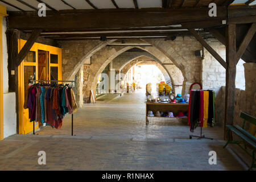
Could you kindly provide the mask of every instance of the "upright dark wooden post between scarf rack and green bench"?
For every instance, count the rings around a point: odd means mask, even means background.
[[[225,121],[224,139],[228,133],[226,125],[233,125],[234,104],[236,97],[236,24],[229,24],[226,28],[226,88],[225,88]]]

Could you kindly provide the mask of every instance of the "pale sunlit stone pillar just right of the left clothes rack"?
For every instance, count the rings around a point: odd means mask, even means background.
[[[76,102],[78,107],[84,104],[82,88],[84,87],[84,67],[82,66],[76,73]]]

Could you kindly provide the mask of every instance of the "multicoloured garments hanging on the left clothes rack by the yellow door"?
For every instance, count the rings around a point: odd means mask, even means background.
[[[24,109],[29,110],[30,122],[46,123],[60,129],[64,115],[77,111],[76,97],[68,84],[28,85],[26,94]]]

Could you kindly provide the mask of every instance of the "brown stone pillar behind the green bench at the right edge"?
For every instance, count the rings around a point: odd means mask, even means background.
[[[246,95],[246,113],[256,116],[256,63],[245,63],[245,95]],[[249,132],[255,133],[255,125],[250,125]]]

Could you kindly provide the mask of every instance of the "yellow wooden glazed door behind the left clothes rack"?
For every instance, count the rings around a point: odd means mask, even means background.
[[[19,39],[19,51],[26,40]],[[51,64],[51,54],[56,54],[57,61]],[[55,67],[51,71],[51,67]],[[57,73],[56,73],[57,68]],[[27,134],[33,131],[33,122],[30,122],[28,109],[24,109],[24,101],[30,80],[51,80],[51,74],[57,75],[57,79],[62,79],[61,74],[61,49],[35,43],[30,52],[19,65],[19,134]],[[39,123],[35,122],[35,129]]]

